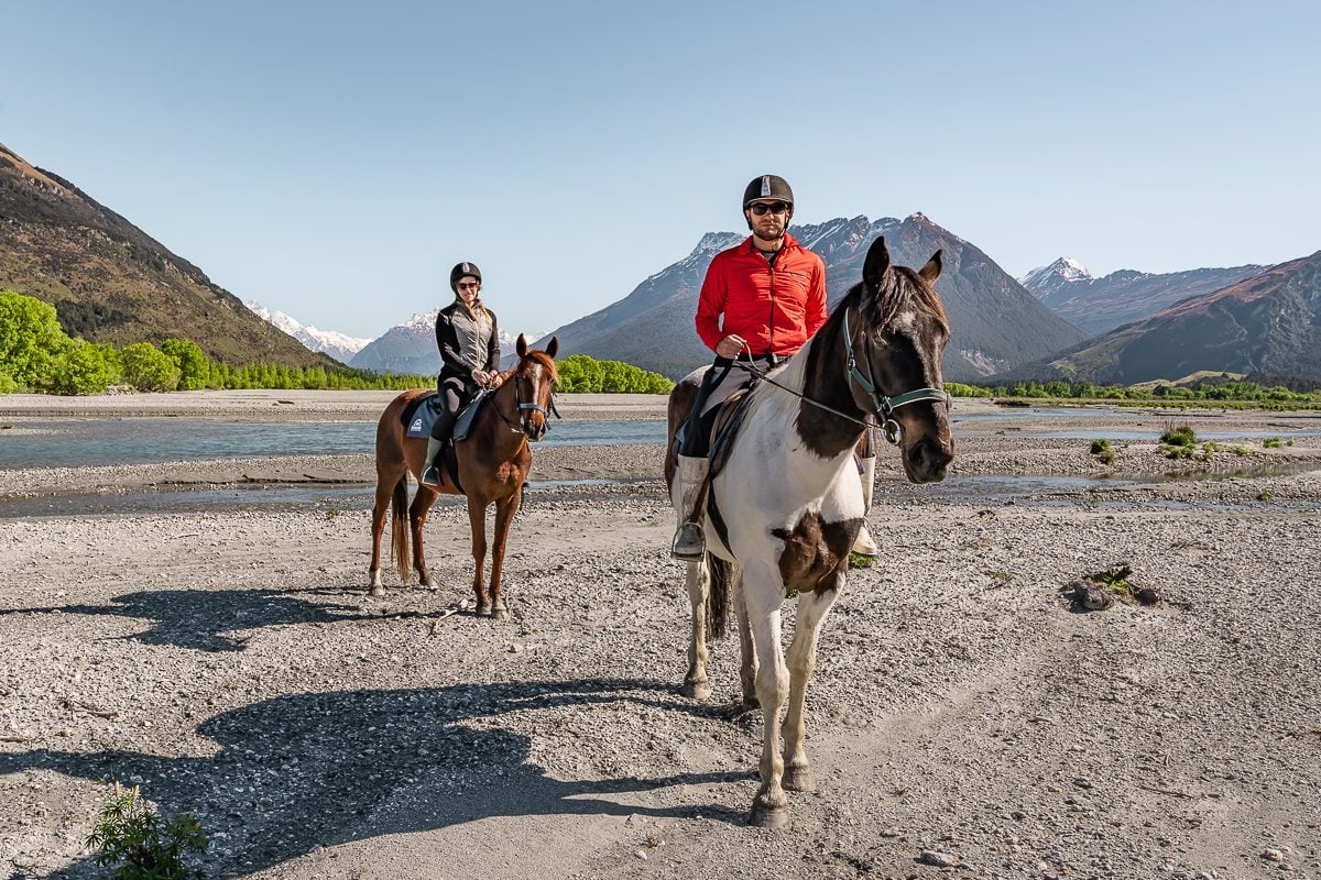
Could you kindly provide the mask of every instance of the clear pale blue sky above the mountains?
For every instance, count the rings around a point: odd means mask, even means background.
[[[756,174],[1011,274],[1321,249],[1305,3],[4,0],[0,142],[242,299],[375,336],[481,265],[511,330],[626,296]]]

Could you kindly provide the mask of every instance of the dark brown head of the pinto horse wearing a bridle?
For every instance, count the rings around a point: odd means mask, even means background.
[[[863,265],[861,290],[855,292],[857,326],[848,331],[853,400],[863,412],[876,413],[886,438],[898,443],[914,483],[943,480],[954,459],[941,379],[950,325],[935,294],[939,274],[939,251],[914,272],[890,265],[885,239],[876,239]]]

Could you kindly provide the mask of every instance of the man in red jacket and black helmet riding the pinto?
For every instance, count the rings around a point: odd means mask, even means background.
[[[684,521],[670,551],[679,559],[700,559],[705,538],[697,503],[711,462],[707,458],[712,424],[720,404],[748,383],[734,368],[744,361],[762,369],[782,363],[826,323],[826,264],[789,234],[794,191],[775,174],[754,177],[744,190],[744,219],[752,235],[716,255],[697,299],[697,335],[716,359],[704,372],[679,450]],[[723,318],[723,321],[721,321]],[[871,507],[876,458],[863,459],[863,497]],[[863,524],[856,553],[875,555],[876,542]]]

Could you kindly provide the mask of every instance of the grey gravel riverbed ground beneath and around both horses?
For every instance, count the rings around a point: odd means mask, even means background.
[[[363,488],[12,516],[24,484],[227,472],[3,475],[0,868],[100,876],[82,840],[118,778],[198,814],[215,877],[1321,877],[1321,439],[1177,463],[1116,445],[1098,470],[1086,441],[987,412],[941,487],[884,453],[871,520],[893,561],[853,570],[826,627],[819,790],[783,833],[745,825],[761,720],[732,711],[737,640],[713,645],[711,702],[678,694],[659,447],[535,453],[543,480],[627,482],[528,492],[503,623],[450,613],[472,577],[457,504],[428,522],[445,586],[370,599]],[[1164,416],[1107,424],[1143,418]],[[309,464],[362,462],[239,470]],[[1062,592],[1114,563],[1161,602]]]

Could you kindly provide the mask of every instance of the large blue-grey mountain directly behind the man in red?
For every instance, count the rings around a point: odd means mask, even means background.
[[[902,220],[865,216],[790,227],[790,234],[826,261],[831,305],[863,274],[867,248],[885,236],[890,259],[921,267],[938,249],[945,269],[937,292],[952,327],[945,376],[974,381],[1081,342],[1086,334],[1033,297],[996,263],[922,214]],[[711,352],[692,323],[711,259],[746,236],[708,232],[683,260],[650,276],[626,297],[555,330],[560,351],[618,359],[679,377],[708,363]]]

